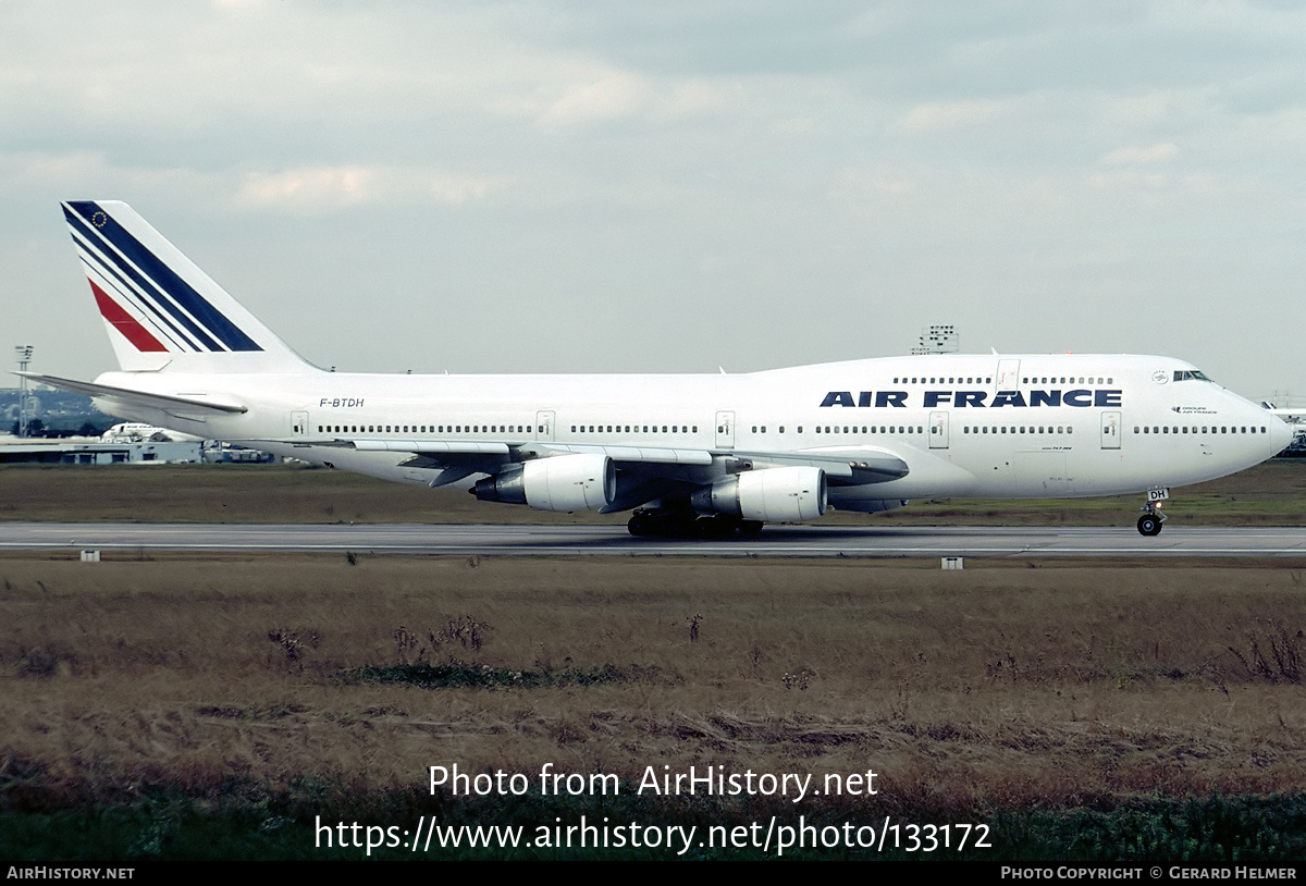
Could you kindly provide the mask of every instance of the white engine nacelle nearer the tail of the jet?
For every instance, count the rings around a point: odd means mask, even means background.
[[[606,455],[537,459],[479,480],[471,491],[482,502],[539,511],[597,511],[616,495],[616,465]]]

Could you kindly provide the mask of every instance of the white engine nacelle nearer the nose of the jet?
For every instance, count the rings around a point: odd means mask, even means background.
[[[803,467],[734,474],[690,498],[696,511],[763,523],[815,520],[825,512],[825,472]]]

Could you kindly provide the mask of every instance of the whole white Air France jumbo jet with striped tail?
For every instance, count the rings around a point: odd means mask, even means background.
[[[488,502],[633,510],[633,534],[751,534],[912,498],[1147,493],[1292,433],[1169,357],[889,357],[742,375],[364,375],[307,363],[127,204],[64,216],[120,370],[120,418]]]

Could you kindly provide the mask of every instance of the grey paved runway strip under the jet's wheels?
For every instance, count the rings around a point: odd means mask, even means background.
[[[767,527],[755,538],[635,538],[624,527],[0,523],[0,550],[354,551],[607,557],[1306,557],[1306,528]]]

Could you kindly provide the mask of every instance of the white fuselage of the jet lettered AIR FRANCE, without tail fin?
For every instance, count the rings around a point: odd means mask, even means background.
[[[1179,486],[1289,442],[1267,410],[1182,361],[1141,355],[925,355],[741,375],[110,372],[101,384],[227,399],[248,410],[124,418],[426,484],[413,446],[478,440],[743,453],[892,455],[896,480],[832,485],[835,507],[921,497],[1068,498]],[[101,401],[123,414],[121,405]],[[359,451],[332,440],[393,440]],[[710,472],[708,472],[710,473]],[[708,474],[696,480],[710,480]]]

